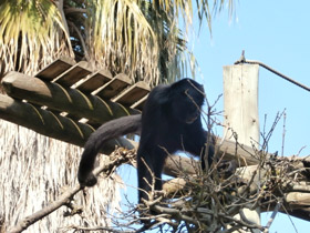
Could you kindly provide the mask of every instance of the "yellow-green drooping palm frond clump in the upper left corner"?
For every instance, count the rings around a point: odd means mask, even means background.
[[[0,77],[32,73],[60,55],[72,55],[69,34],[51,0],[2,0],[0,3]]]

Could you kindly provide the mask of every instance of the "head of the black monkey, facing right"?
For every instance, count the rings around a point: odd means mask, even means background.
[[[176,120],[192,124],[200,118],[205,100],[204,87],[190,79],[183,79],[170,87],[172,111]]]

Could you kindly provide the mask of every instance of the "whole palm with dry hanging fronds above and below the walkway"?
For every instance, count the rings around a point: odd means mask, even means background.
[[[232,0],[211,4],[196,0],[200,23],[206,20],[210,29],[213,14],[221,11],[226,2],[231,12]],[[34,74],[64,55],[85,60],[112,74],[126,73],[151,85],[172,82],[182,78],[193,62],[185,39],[192,28],[193,9],[193,2],[187,0],[1,0],[0,79],[12,70]],[[59,185],[75,182],[81,149],[4,121],[0,131],[0,183],[4,184],[0,219],[2,214],[7,224],[13,224],[37,210],[38,203],[59,194]],[[90,192],[93,200],[89,212],[99,212],[110,203],[116,205],[116,188],[115,182],[106,181]],[[56,215],[31,231],[58,231],[64,219],[61,211]],[[108,223],[103,217],[65,220],[66,224]]]

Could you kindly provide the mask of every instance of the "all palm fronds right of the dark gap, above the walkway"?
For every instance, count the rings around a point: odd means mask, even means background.
[[[211,13],[224,3],[215,1],[210,10],[208,1],[197,1],[199,20],[206,18],[210,28]],[[192,27],[192,1],[91,0],[84,8],[85,23],[72,23],[81,32],[76,36],[81,52],[95,67],[114,74],[124,72],[151,85],[184,77],[187,63],[195,70],[195,58],[182,31],[185,27],[187,33]]]

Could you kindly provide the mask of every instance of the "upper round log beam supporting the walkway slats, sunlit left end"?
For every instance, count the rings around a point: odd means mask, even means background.
[[[2,84],[10,97],[46,105],[60,112],[69,112],[78,119],[86,118],[91,123],[101,124],[115,118],[140,113],[91,94],[85,95],[79,90],[63,88],[14,71],[2,79]]]

